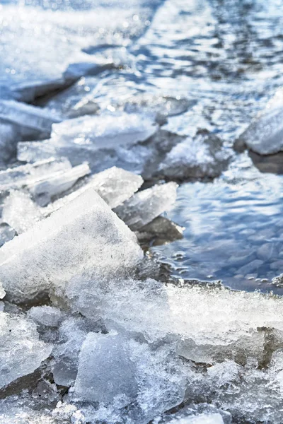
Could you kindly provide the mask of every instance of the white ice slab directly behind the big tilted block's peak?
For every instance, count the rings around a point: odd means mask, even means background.
[[[103,172],[92,175],[88,182],[71,194],[54,201],[46,208],[46,215],[62,208],[64,204],[75,199],[79,194],[85,192],[89,188],[93,188],[102,197],[102,199],[110,206],[115,208],[129,199],[129,197],[137,192],[144,180],[140,175],[133,174],[117,167],[109,168]]]

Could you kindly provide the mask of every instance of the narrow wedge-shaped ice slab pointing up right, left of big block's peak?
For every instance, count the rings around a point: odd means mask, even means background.
[[[53,196],[66,192],[73,187],[79,178],[85,177],[90,172],[91,170],[87,163],[77,165],[63,172],[54,172],[53,175],[46,179],[35,182],[30,187],[30,193],[33,194],[40,206],[46,206],[50,203]]]

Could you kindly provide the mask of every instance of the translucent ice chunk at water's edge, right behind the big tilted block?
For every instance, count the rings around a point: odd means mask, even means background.
[[[141,190],[124,204],[115,208],[115,213],[129,228],[139,230],[156,216],[171,208],[177,196],[177,187],[175,182],[168,182]]]

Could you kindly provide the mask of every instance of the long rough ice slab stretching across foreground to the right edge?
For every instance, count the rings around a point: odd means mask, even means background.
[[[74,310],[103,318],[110,329],[124,329],[155,341],[173,336],[178,352],[200,363],[219,358],[262,358],[262,327],[283,331],[283,301],[259,293],[201,286],[179,288],[157,281],[75,278],[67,288]],[[133,308],[134,305],[134,308]],[[278,335],[278,337],[281,337]]]

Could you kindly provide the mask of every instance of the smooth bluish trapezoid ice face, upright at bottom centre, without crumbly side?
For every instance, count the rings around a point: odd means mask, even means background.
[[[113,332],[88,333],[79,355],[74,390],[85,401],[107,405],[116,396],[125,396],[129,404],[138,387],[127,340]]]

